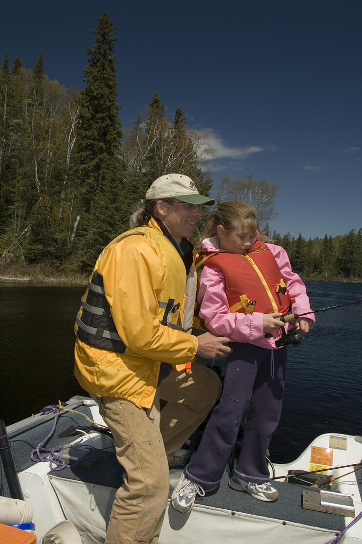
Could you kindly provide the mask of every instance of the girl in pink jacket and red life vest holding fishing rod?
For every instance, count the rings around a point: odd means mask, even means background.
[[[279,422],[287,348],[277,348],[275,342],[285,326],[283,314],[311,311],[305,285],[292,272],[286,251],[263,241],[254,208],[223,202],[206,222],[203,238],[199,316],[209,331],[234,343],[219,404],[171,497],[174,508],[185,513],[197,493],[204,495],[219,485],[249,400],[229,486],[259,500],[277,500],[265,458]],[[314,314],[310,316],[295,324],[303,333],[314,325]]]

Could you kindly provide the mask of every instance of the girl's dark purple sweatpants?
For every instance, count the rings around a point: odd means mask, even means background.
[[[274,351],[253,344],[230,343],[223,392],[207,422],[199,448],[185,475],[206,490],[216,487],[234,447],[243,413],[250,406],[234,474],[246,481],[269,480],[266,453],[278,426],[285,384],[286,347]],[[251,398],[250,398],[251,397]]]

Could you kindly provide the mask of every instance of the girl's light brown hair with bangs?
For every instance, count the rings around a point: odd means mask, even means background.
[[[201,233],[201,240],[217,236],[218,225],[222,225],[225,231],[232,231],[234,228],[237,228],[240,221],[243,222],[247,230],[254,233],[258,240],[262,242],[270,241],[265,234],[260,232],[255,208],[238,200],[229,200],[219,204],[216,212],[207,219]]]

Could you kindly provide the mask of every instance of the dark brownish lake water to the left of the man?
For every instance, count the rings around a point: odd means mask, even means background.
[[[73,326],[84,290],[0,284],[5,424],[84,393],[73,375]]]

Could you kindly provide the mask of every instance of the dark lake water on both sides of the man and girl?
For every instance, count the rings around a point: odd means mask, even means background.
[[[306,282],[311,307],[362,299],[362,285]],[[10,425],[44,406],[84,394],[73,376],[73,325],[83,287],[0,283],[0,419]],[[287,380],[271,458],[296,458],[324,432],[362,435],[362,304],[316,314]]]

